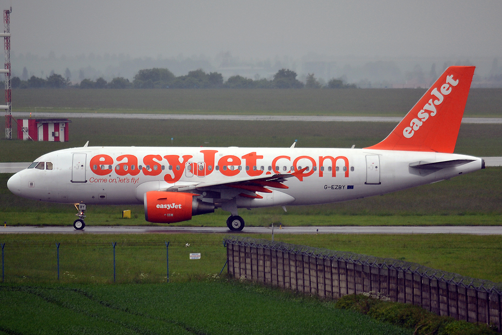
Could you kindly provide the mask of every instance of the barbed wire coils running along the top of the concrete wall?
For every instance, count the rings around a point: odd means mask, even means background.
[[[232,244],[244,247],[281,251],[296,255],[305,255],[314,258],[330,259],[332,261],[337,260],[346,263],[359,264],[380,269],[387,268],[390,270],[407,272],[411,274],[418,274],[428,279],[438,280],[448,284],[455,284],[460,287],[470,288],[490,294],[491,293],[501,294],[502,292],[502,283],[495,283],[489,280],[462,276],[459,275],[458,273],[433,269],[417,263],[406,262],[403,260],[396,260],[392,258],[368,256],[348,251],[334,251],[325,248],[314,248],[314,247],[307,247],[284,242],[253,239],[240,236],[227,236],[223,239],[223,243],[225,245]]]

